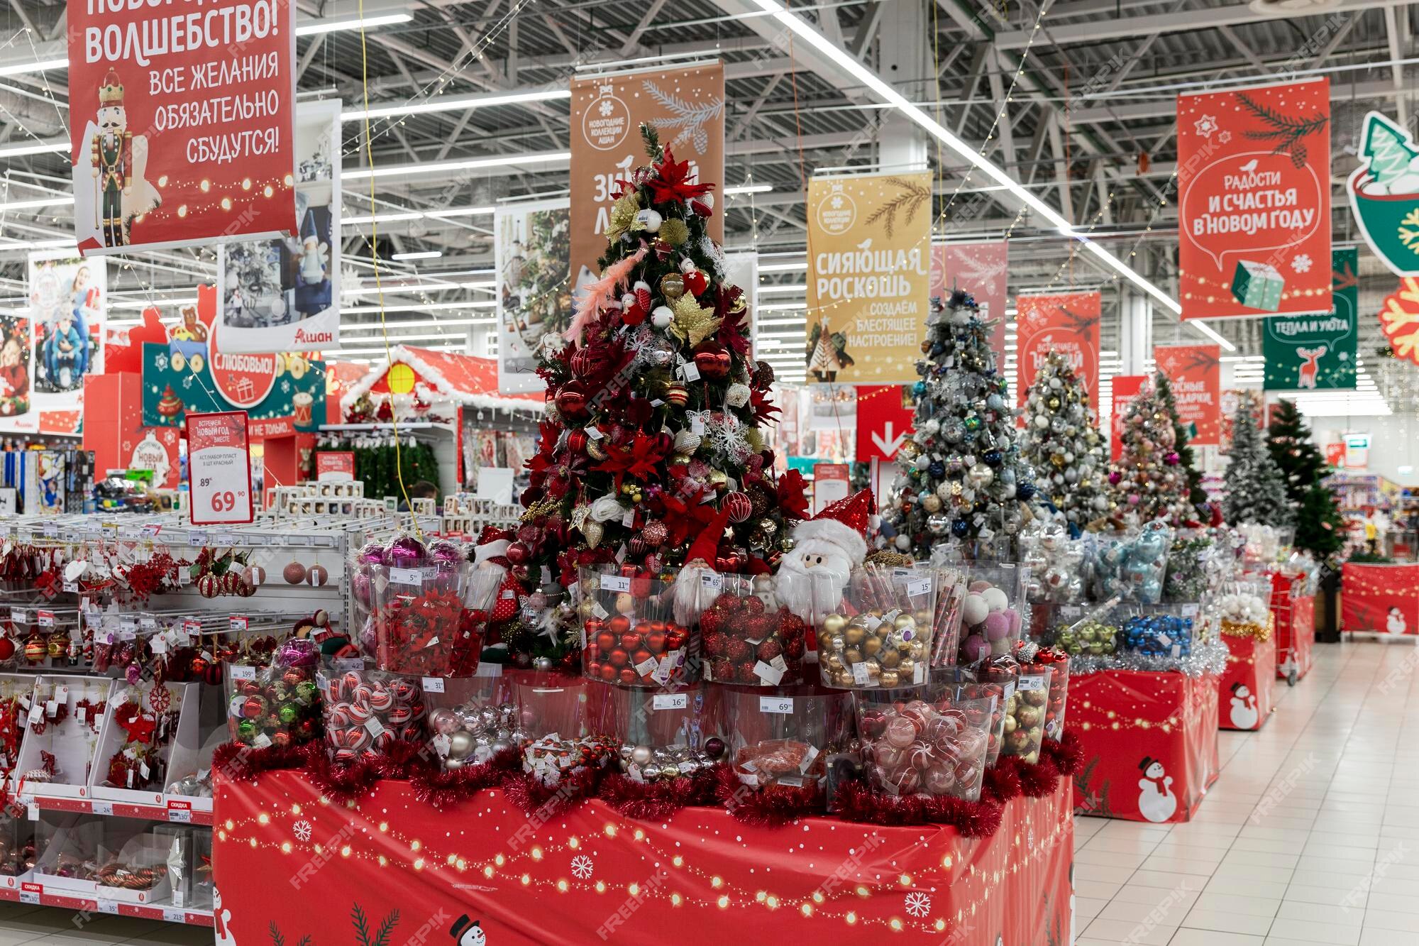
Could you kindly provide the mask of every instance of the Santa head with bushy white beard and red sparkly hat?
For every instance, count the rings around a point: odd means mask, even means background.
[[[793,548],[783,553],[775,578],[779,604],[812,622],[819,609],[836,607],[853,570],[867,557],[867,526],[874,513],[871,490],[839,500],[793,527]]]

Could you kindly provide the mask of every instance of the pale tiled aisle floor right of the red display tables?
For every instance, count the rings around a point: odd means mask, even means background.
[[[1076,820],[1078,946],[1419,946],[1419,651],[1315,655],[1196,820]]]

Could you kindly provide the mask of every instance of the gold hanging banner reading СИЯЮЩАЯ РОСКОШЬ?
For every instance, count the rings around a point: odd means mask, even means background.
[[[929,288],[929,173],[809,182],[810,384],[914,384]]]

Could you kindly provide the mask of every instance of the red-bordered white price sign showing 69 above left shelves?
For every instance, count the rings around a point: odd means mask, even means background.
[[[250,523],[251,447],[247,443],[247,415],[241,411],[187,415],[187,479],[192,523]],[[204,545],[197,533],[194,545]]]

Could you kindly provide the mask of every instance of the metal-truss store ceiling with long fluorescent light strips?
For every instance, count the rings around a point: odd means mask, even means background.
[[[62,3],[9,0],[4,17],[0,277],[14,307],[26,253],[72,244],[67,104],[92,91],[67,87]],[[1413,122],[1419,67],[1413,7],[1393,0],[298,0],[297,33],[302,99],[343,102],[338,357],[379,354],[375,257],[393,339],[487,352],[492,207],[565,193],[570,78],[718,57],[725,243],[759,251],[762,351],[790,381],[807,179],[914,148],[937,175],[938,240],[1010,237],[1012,297],[1104,288],[1105,374],[1124,368],[1130,317],[1155,344],[1220,334],[1230,379],[1259,385],[1259,320],[1183,325],[1169,305],[1175,97],[1327,77],[1332,234],[1347,246],[1359,234],[1341,187],[1361,121],[1378,109]],[[1376,368],[1384,338],[1366,318],[1395,277],[1364,247],[1359,259],[1362,391],[1345,409],[1388,393],[1408,411],[1413,385]],[[210,249],[123,257],[112,317],[211,278]]]

